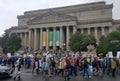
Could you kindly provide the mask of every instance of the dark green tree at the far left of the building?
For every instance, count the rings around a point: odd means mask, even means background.
[[[2,47],[4,53],[14,54],[15,51],[21,48],[21,39],[15,33],[11,34],[10,37],[5,34],[2,38]]]

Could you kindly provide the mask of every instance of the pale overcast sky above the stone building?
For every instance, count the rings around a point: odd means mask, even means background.
[[[23,15],[25,11],[98,1],[113,3],[113,19],[120,19],[120,0],[0,0],[0,36],[4,30],[16,26],[17,15]]]

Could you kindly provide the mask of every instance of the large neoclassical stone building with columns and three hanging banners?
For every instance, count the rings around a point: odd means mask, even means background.
[[[112,18],[113,4],[94,2],[58,8],[24,12],[17,16],[18,26],[7,30],[22,39],[22,46],[29,50],[46,48],[69,48],[69,38],[76,31],[93,34],[99,42],[120,25],[120,20]]]

